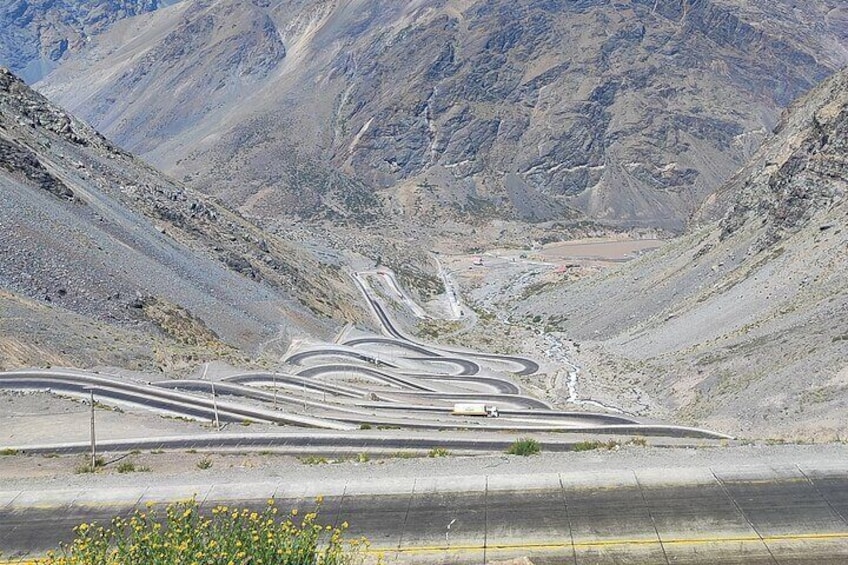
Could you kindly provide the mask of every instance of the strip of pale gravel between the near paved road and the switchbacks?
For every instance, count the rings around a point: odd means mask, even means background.
[[[168,486],[181,484],[260,483],[288,480],[305,483],[338,480],[363,482],[411,477],[480,475],[526,476],[541,473],[603,473],[614,470],[664,469],[673,477],[686,469],[738,469],[796,465],[830,468],[848,465],[848,445],[747,445],[716,448],[653,448],[629,446],[618,450],[580,453],[542,453],[532,457],[508,455],[449,456],[446,458],[384,458],[358,462],[356,457],[326,464],[306,464],[296,457],[272,454],[159,453],[131,455],[149,472],[120,474],[117,461],[96,475],[76,474],[83,457],[45,458],[1,456],[3,490],[76,487]],[[197,464],[208,459],[211,466]]]

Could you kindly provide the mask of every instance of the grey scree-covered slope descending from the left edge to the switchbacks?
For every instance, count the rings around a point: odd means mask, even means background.
[[[249,358],[358,319],[331,254],[168,179],[6,70],[0,196],[0,364]]]

